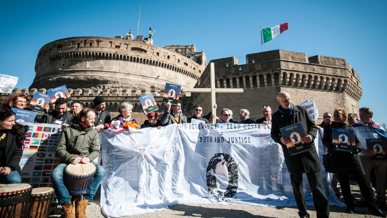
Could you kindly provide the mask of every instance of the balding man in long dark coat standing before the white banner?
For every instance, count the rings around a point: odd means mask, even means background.
[[[290,172],[293,193],[299,210],[298,215],[300,215],[301,218],[310,217],[307,212],[307,205],[305,204],[305,197],[302,191],[302,174],[306,173],[312,190],[317,218],[327,218],[329,217],[329,204],[328,199],[325,196],[324,188],[322,187],[319,155],[317,154],[313,142],[317,134],[317,127],[305,108],[293,106],[288,93],[279,92],[277,94],[277,102],[280,106],[279,110],[275,112],[272,117],[271,137],[275,142],[282,145],[285,163]],[[302,139],[312,146],[312,150],[290,156],[286,144],[291,142],[291,140],[282,137],[279,129],[299,122],[302,122],[305,131],[307,132],[307,136]]]

